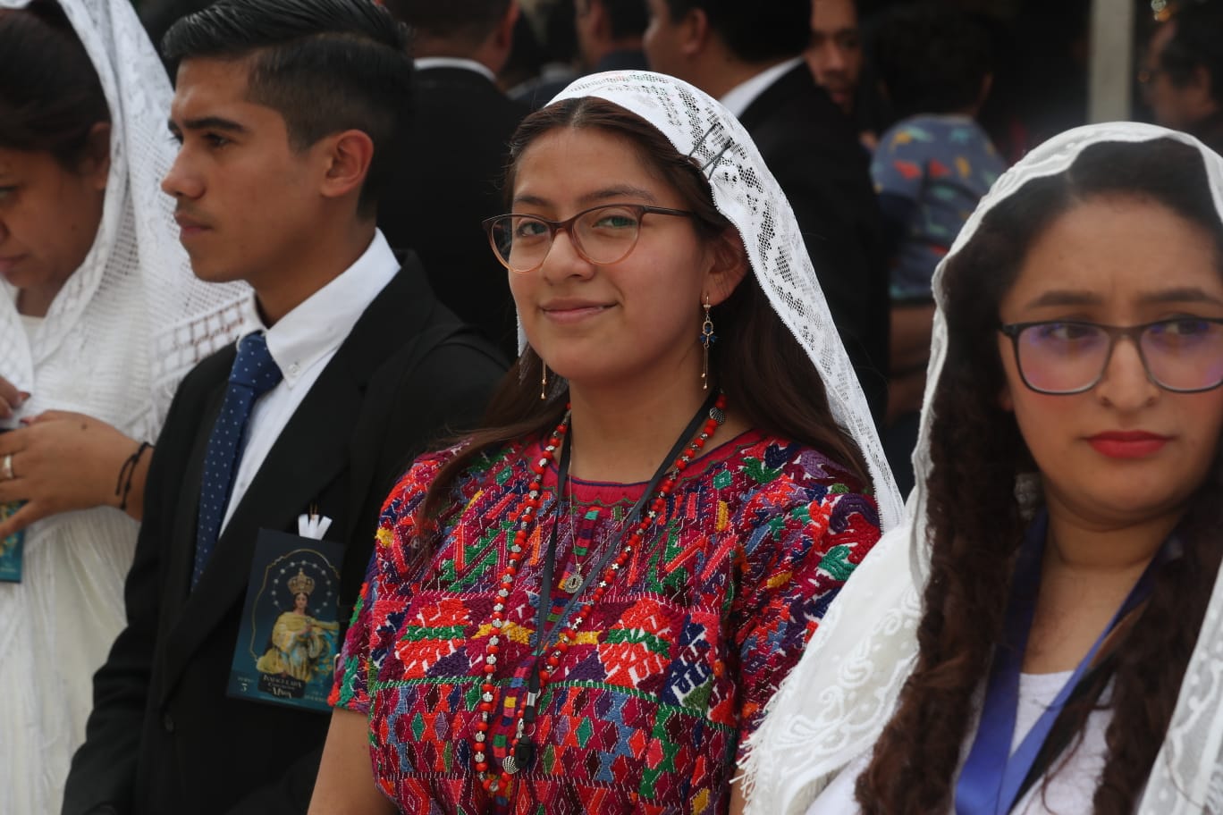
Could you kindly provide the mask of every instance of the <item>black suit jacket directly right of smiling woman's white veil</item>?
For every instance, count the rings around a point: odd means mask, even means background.
[[[871,167],[850,121],[797,65],[739,117],[790,199],[876,423],[887,404],[888,274]]]

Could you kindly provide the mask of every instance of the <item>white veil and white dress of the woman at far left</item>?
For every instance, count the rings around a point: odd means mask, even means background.
[[[26,0],[0,0],[20,9]],[[111,165],[84,263],[27,335],[16,290],[0,296],[0,376],[32,393],[18,415],[77,411],[153,441],[179,380],[235,337],[248,291],[191,274],[160,191],[177,147],[171,89],[128,0],[61,0],[102,79]],[[15,456],[20,473],[21,455]],[[116,473],[117,475],[117,473]],[[59,811],[84,738],[91,677],[124,624],[137,524],[93,508],[26,530],[24,579],[0,583],[0,811]]]

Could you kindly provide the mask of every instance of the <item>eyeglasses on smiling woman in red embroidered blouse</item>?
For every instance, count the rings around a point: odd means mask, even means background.
[[[560,230],[569,232],[569,239],[583,259],[608,266],[627,258],[637,246],[646,215],[690,217],[695,213],[646,204],[602,204],[563,221],[514,213],[498,215],[484,221],[484,230],[497,259],[510,271],[525,274],[542,266]]]

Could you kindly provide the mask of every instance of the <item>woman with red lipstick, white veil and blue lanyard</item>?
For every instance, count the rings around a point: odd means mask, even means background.
[[[905,522],[859,567],[774,695],[750,744],[748,813],[948,813],[953,802],[961,814],[1221,810],[1223,356],[1219,324],[1210,321],[1223,316],[1221,276],[1223,159],[1184,133],[1076,128],[999,178],[936,276]],[[1007,329],[1011,340],[999,326],[1016,309],[1021,320],[1065,323]],[[1114,332],[1110,343],[1082,321],[1157,327],[1131,331],[1132,341]],[[1042,370],[1032,331],[1058,343],[1088,337],[1112,356],[1093,356],[1084,373],[1068,362],[1068,346],[1049,345],[1058,353]],[[1188,378],[1172,373],[1199,352]],[[1032,415],[1049,422],[1033,426]],[[1062,417],[1088,415],[1092,429],[1084,422],[1077,436],[1066,434]],[[1075,469],[1085,462],[1088,469]],[[1095,521],[1110,530],[1096,556],[1141,541],[1113,573],[1110,601],[1101,600],[1109,594],[1101,573],[1087,571],[1069,599],[1058,593],[1066,544],[1085,540],[1065,532],[1068,495],[1091,496]],[[1040,555],[1042,518],[1057,533],[1046,552],[1057,555],[1033,566],[1024,552]],[[1033,583],[1054,587],[1048,596],[1065,605],[1044,618],[1043,633],[1029,626],[1029,641],[1041,645],[1025,650],[1024,618],[1011,610],[1031,602],[1042,619],[1046,595]],[[1114,612],[1112,635],[1096,640]],[[1064,665],[1040,668],[1068,648],[1073,659],[1063,652]],[[1081,683],[1062,670],[1076,662]],[[1005,676],[1018,681],[1009,696]],[[1048,706],[1025,717],[1025,688],[1047,681]],[[1084,695],[1059,707],[1071,684]],[[1005,703],[1016,696],[1032,731],[1049,723],[1033,737],[1043,756],[1025,747],[1014,718],[1010,731],[998,726],[999,714],[1015,716]],[[991,751],[996,762],[980,762]]]

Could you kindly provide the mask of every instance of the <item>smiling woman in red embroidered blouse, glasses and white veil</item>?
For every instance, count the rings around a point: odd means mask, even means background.
[[[578,81],[506,189],[527,345],[489,429],[388,500],[311,811],[733,811],[739,744],[899,517],[870,412],[700,90]]]

